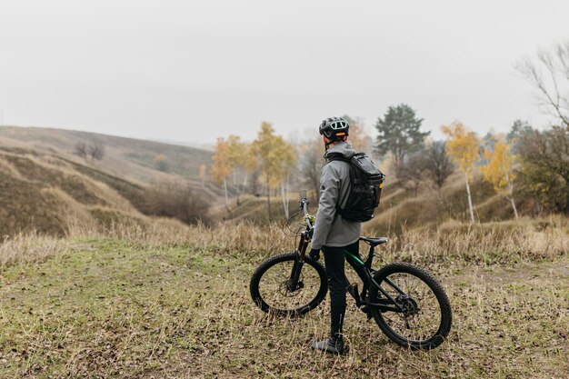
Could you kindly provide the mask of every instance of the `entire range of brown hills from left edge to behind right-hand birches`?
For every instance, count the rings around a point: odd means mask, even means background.
[[[104,145],[105,156],[92,160],[74,155],[75,145],[80,143]],[[205,150],[69,130],[4,126],[0,127],[0,152],[0,174],[4,175],[0,212],[10,214],[11,220],[3,222],[8,231],[4,234],[33,227],[40,232],[60,234],[66,228],[62,226],[65,217],[61,214],[77,207],[86,207],[90,217],[94,213],[101,215],[105,209],[106,213],[119,211],[136,218],[141,211],[145,213],[141,198],[144,188],[172,181],[204,192],[214,205],[210,212],[214,220],[268,220],[265,196],[242,194],[231,201],[227,210],[220,200],[221,189],[207,181],[202,184],[199,166],[210,165],[212,158],[212,153]],[[167,172],[155,167],[158,155],[165,156]],[[100,185],[105,188],[102,193]],[[511,204],[495,194],[492,185],[480,175],[474,176],[471,188],[474,212],[481,223],[514,218]],[[302,189],[299,184],[291,188],[290,214],[296,212],[297,194]],[[237,192],[232,186],[229,190]],[[112,194],[107,195],[109,191]],[[519,191],[514,197],[522,216],[534,215],[533,199]],[[401,234],[404,229],[436,229],[441,224],[464,222],[466,199],[464,177],[460,174],[451,175],[440,192],[424,181],[416,194],[394,180],[394,175],[388,175],[376,216],[365,224],[366,233]],[[314,194],[311,202],[310,211],[315,213]],[[272,195],[272,209],[273,220],[282,223],[284,212],[278,194]]]

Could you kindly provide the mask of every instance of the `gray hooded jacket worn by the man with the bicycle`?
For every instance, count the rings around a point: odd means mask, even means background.
[[[341,142],[331,147],[324,157],[332,153],[340,153],[351,158],[355,150],[348,142]],[[350,190],[350,164],[344,161],[326,162],[320,177],[320,200],[314,224],[312,248],[322,246],[346,246],[358,240],[362,224],[344,220],[336,214],[336,204],[344,207]]]

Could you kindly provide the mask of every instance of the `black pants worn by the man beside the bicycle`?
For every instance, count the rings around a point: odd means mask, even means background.
[[[330,290],[330,334],[342,334],[345,314],[345,292],[350,285],[344,273],[344,260],[354,267],[360,276],[364,276],[364,265],[358,262],[362,258],[359,254],[359,243],[348,244],[342,247],[323,246],[324,264],[328,276],[328,288]],[[349,254],[346,254],[349,253]]]

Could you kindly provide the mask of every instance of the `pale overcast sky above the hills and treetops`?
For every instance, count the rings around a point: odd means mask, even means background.
[[[214,143],[344,114],[371,132],[405,103],[435,131],[540,125],[514,63],[568,38],[567,15],[544,0],[0,0],[0,122]]]

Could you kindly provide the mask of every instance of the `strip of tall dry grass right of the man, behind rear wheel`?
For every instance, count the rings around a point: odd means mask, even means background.
[[[569,254],[569,223],[564,217],[503,223],[446,223],[436,231],[415,229],[394,235],[386,260],[414,263],[508,264],[554,259]]]

